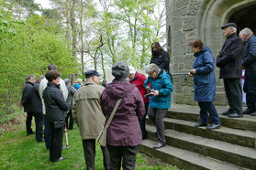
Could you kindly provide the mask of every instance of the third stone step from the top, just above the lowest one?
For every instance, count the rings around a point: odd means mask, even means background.
[[[155,127],[147,125],[148,137],[157,141]],[[207,139],[188,133],[165,130],[166,143],[190,152],[202,154],[232,165],[256,169],[256,150],[232,143]]]

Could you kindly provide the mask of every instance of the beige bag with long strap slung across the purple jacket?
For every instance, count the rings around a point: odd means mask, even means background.
[[[99,133],[98,137],[97,137],[97,143],[99,143],[101,146],[106,146],[106,130],[109,126],[109,124],[112,122],[112,119],[114,117],[114,114],[117,112],[117,108],[119,106],[119,103],[122,101],[121,99],[118,99],[113,111],[110,114],[109,119],[106,122],[106,125],[103,127],[102,131]]]

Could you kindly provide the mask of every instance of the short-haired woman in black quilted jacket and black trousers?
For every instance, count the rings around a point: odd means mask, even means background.
[[[49,70],[45,74],[48,86],[43,90],[43,100],[46,108],[46,119],[50,125],[50,161],[58,162],[61,157],[64,121],[68,112],[68,105],[60,90],[60,76],[57,70]]]

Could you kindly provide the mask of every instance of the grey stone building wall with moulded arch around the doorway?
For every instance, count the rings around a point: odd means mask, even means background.
[[[186,73],[192,69],[194,55],[189,43],[201,38],[217,57],[225,42],[221,26],[235,22],[239,30],[250,27],[256,31],[256,0],[166,0],[167,49],[170,54],[170,72]],[[217,105],[226,104],[223,81],[218,79],[216,67]],[[193,78],[173,77],[173,101],[196,104]]]

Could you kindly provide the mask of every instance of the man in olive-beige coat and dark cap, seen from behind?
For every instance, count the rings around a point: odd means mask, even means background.
[[[95,70],[85,72],[86,83],[74,93],[72,101],[73,121],[77,123],[83,141],[86,169],[95,169],[95,139],[105,123],[101,111],[100,97],[104,87],[99,84],[99,74]],[[109,169],[110,157],[106,147],[102,147],[104,166]]]

